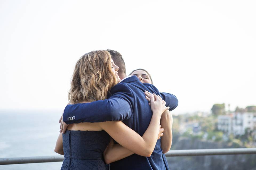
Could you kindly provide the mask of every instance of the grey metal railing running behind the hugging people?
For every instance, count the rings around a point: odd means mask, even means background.
[[[166,156],[202,156],[202,155],[239,155],[239,154],[256,154],[256,148],[170,150],[165,155]],[[32,157],[19,157],[19,158],[0,158],[0,165],[62,162],[63,159],[64,159],[64,156],[32,156]]]

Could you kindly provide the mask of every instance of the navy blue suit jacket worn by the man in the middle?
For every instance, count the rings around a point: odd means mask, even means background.
[[[67,105],[63,120],[67,124],[121,120],[142,136],[152,117],[152,111],[145,99],[145,90],[160,95],[166,101],[166,106],[170,107],[169,110],[178,105],[174,95],[159,93],[152,84],[142,84],[136,76],[132,76],[115,85],[106,100]],[[111,163],[110,169],[169,169],[166,157],[162,154],[161,139],[157,141],[150,157],[133,154]]]

